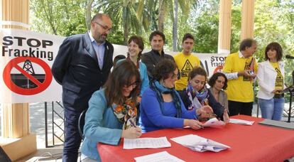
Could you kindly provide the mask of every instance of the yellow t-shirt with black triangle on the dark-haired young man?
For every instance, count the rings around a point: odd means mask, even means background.
[[[175,81],[175,90],[183,90],[187,87],[187,76],[192,68],[200,66],[200,60],[196,55],[178,53],[174,56],[180,72],[180,80]]]

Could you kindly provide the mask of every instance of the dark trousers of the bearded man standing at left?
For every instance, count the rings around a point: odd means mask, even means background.
[[[78,121],[80,114],[72,109],[67,109],[65,107],[65,143],[63,146],[63,162],[73,162],[77,161],[78,151],[82,141],[82,137],[79,134]]]

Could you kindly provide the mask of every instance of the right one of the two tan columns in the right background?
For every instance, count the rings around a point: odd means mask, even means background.
[[[241,40],[254,38],[254,2],[255,0],[242,0]]]

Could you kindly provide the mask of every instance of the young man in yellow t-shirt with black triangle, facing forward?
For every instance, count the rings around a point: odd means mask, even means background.
[[[187,76],[192,68],[200,66],[200,60],[192,55],[194,37],[190,33],[185,33],[182,41],[183,51],[174,56],[175,63],[180,70],[180,79],[175,81],[175,90],[184,90],[187,87]]]

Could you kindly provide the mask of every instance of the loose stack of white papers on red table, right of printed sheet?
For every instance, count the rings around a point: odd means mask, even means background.
[[[193,151],[198,151],[198,152],[204,152],[204,151],[219,152],[224,149],[231,148],[230,146],[220,144],[216,141],[212,141],[211,139],[205,139],[201,136],[197,136],[194,134],[179,136],[171,140],[187,148],[190,148]]]

